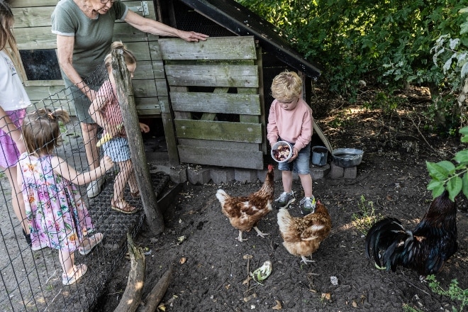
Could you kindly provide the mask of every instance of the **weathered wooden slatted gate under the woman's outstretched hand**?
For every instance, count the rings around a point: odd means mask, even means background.
[[[254,38],[159,43],[180,161],[263,169],[262,83]],[[219,121],[220,113],[235,114],[238,121]]]

